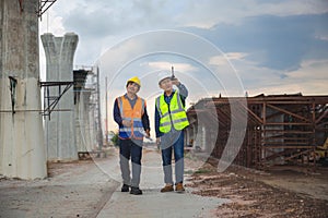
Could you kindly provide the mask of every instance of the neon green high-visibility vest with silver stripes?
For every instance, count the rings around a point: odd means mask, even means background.
[[[167,133],[172,124],[175,130],[183,130],[189,125],[187,113],[183,106],[178,92],[173,94],[169,105],[164,100],[164,95],[156,98],[156,108],[160,113],[160,131]]]

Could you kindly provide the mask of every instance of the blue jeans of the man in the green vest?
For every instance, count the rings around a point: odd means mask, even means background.
[[[172,178],[172,152],[175,159],[175,181],[184,182],[184,132],[172,130],[161,136],[164,182],[174,184]]]

